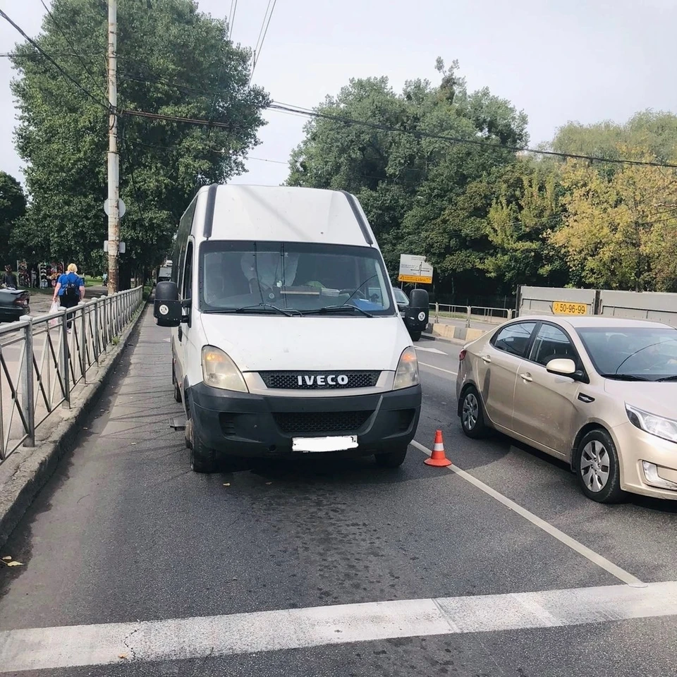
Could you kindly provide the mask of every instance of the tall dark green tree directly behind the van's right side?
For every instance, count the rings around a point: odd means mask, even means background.
[[[527,118],[487,89],[469,93],[458,63],[445,68],[438,59],[437,70],[438,86],[411,80],[398,94],[386,78],[368,78],[327,97],[291,155],[288,183],[355,193],[391,272],[402,252],[425,254],[451,286],[458,276],[462,282],[484,277],[478,252],[490,246],[479,221],[491,197],[471,208],[466,189],[516,158],[501,148],[432,136],[520,146]],[[479,221],[456,218],[468,209]]]

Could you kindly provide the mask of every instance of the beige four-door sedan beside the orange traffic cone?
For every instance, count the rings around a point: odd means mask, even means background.
[[[461,351],[468,437],[494,428],[571,463],[586,496],[677,500],[677,329],[607,317],[520,317]]]

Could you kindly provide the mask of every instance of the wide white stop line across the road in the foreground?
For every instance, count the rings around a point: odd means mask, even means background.
[[[677,616],[677,582],[5,630],[0,673]]]

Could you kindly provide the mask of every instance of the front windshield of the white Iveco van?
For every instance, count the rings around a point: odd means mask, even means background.
[[[209,240],[200,246],[202,312],[394,315],[378,250]]]

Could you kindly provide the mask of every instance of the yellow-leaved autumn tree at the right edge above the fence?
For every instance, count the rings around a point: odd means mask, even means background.
[[[644,159],[653,156],[645,152]],[[623,165],[609,176],[604,166],[569,161],[561,181],[566,217],[550,239],[566,255],[573,281],[635,291],[676,288],[676,171]]]

